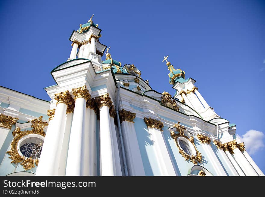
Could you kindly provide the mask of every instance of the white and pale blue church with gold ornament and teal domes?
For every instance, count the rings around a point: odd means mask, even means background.
[[[51,70],[50,101],[0,86],[1,176],[264,176],[204,87],[165,55],[176,91],[155,91],[141,65],[111,56],[92,17]]]

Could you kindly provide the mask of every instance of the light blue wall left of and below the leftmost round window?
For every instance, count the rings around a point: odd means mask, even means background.
[[[31,128],[28,128],[31,129]],[[5,176],[13,172],[24,172],[25,169],[23,168],[20,163],[10,163],[12,160],[9,159],[10,157],[8,154],[6,154],[7,151],[10,151],[10,143],[13,140],[13,135],[12,132],[15,130],[15,125],[12,125],[11,130],[8,132],[8,136],[5,139],[5,142],[0,150],[0,160],[1,160],[1,165],[0,165],[0,176]],[[30,170],[27,170],[27,172],[32,172],[36,173],[36,166],[35,168],[32,168]]]

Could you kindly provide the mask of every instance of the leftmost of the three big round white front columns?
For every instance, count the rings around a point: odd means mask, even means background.
[[[60,139],[63,137],[66,118],[67,104],[60,102],[56,106],[53,120],[50,120],[45,140],[42,146],[42,153],[39,159],[36,176],[57,175],[59,168]]]

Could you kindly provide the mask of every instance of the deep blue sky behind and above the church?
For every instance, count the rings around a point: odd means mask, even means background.
[[[265,173],[264,1],[11,0],[0,11],[0,85],[50,100],[50,71],[69,58],[72,31],[94,14],[112,58],[134,64],[154,90],[174,95],[165,55],[195,79],[215,112],[255,144],[246,148]]]

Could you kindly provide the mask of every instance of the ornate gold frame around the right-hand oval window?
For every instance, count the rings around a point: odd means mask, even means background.
[[[194,138],[190,137],[188,138],[185,134],[184,131],[186,130],[185,127],[181,126],[179,124],[180,122],[178,122],[177,124],[174,125],[174,127],[176,127],[177,131],[179,133],[175,133],[174,131],[171,131],[171,137],[175,140],[177,147],[179,148],[179,153],[182,155],[182,157],[185,158],[185,160],[190,160],[192,163],[194,163],[195,165],[199,162],[202,163],[202,155],[201,153],[198,151],[197,147],[194,144]],[[187,130],[186,130],[187,131]],[[195,148],[196,151],[196,156],[192,155],[188,155],[185,151],[182,150],[182,148],[179,147],[179,143],[178,143],[178,137],[184,137],[187,140],[189,140],[193,147]]]

